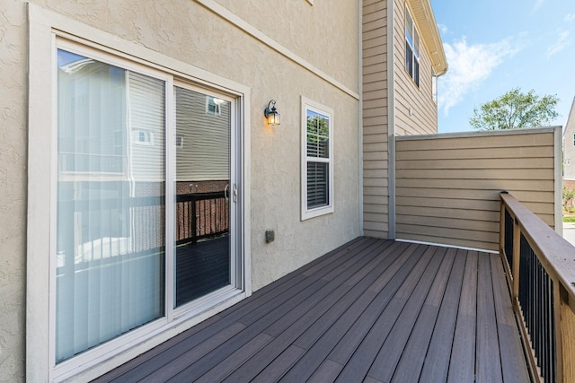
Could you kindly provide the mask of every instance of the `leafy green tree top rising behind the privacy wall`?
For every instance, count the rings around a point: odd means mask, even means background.
[[[556,95],[537,96],[534,90],[527,93],[519,88],[508,91],[500,98],[473,108],[473,118],[469,123],[475,129],[496,130],[517,127],[544,126],[559,114],[555,106],[559,102]]]

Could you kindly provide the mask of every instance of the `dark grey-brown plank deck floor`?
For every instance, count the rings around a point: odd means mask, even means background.
[[[354,239],[99,382],[526,382],[500,257]]]

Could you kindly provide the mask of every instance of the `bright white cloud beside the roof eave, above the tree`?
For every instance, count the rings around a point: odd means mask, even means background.
[[[517,39],[503,39],[491,44],[468,45],[465,38],[443,44],[449,70],[441,77],[438,107],[444,114],[463,100],[464,95],[487,80],[506,58],[514,56],[522,44]]]

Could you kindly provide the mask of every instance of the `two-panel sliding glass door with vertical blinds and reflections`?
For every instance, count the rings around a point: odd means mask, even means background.
[[[234,98],[86,52],[57,50],[56,364],[240,288]]]

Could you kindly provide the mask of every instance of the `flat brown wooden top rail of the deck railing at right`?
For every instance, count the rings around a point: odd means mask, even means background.
[[[507,193],[501,193],[501,201],[517,220],[529,244],[539,257],[548,274],[555,276],[575,302],[575,247],[563,239],[535,213],[521,205]]]

